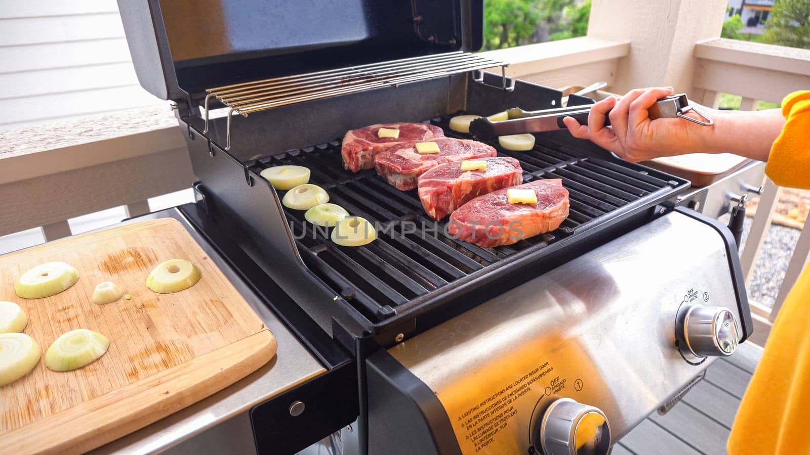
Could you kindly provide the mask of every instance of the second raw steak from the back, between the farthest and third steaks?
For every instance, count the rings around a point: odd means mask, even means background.
[[[377,173],[391,185],[407,191],[415,189],[419,176],[439,164],[497,155],[494,147],[471,139],[435,138],[439,153],[420,155],[414,144],[400,144],[374,157]]]

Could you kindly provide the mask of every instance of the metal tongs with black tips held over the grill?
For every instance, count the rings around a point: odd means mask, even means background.
[[[539,111],[510,108],[506,111],[509,114],[509,120],[491,121],[487,117],[476,118],[470,124],[470,134],[475,138],[487,140],[509,134],[565,130],[565,123],[562,121],[565,117],[573,117],[581,125],[587,125],[590,107],[590,105],[580,105]],[[702,120],[687,116],[686,113],[689,111],[697,113]],[[689,104],[689,99],[685,93],[661,98],[649,109],[649,112],[651,119],[680,117],[693,121],[698,125],[710,126],[714,124],[710,117]],[[610,125],[610,119],[605,119],[605,125]]]

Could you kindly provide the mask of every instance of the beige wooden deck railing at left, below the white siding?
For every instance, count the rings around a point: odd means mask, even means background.
[[[20,130],[0,131],[0,236],[42,227],[70,236],[67,219],[126,206],[194,182],[168,103]]]

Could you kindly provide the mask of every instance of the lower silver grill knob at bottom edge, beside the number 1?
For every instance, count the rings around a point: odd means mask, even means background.
[[[548,406],[532,439],[544,455],[605,455],[610,425],[599,408],[560,398]]]

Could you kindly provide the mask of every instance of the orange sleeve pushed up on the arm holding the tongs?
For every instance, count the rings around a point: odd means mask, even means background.
[[[765,173],[779,186],[810,189],[810,91],[782,101],[785,127],[770,149]]]

